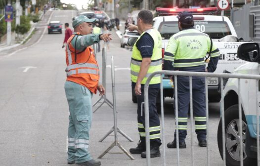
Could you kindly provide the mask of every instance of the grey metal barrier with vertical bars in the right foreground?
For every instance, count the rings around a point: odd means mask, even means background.
[[[178,101],[177,101],[177,76],[187,76],[189,77],[189,86],[190,86],[190,117],[191,117],[191,164],[194,165],[194,149],[193,149],[193,103],[192,103],[192,77],[217,77],[220,78],[220,86],[221,86],[221,101],[220,101],[220,110],[221,110],[221,124],[222,124],[222,158],[223,158],[223,166],[226,166],[226,155],[225,155],[225,126],[224,126],[224,94],[223,92],[223,78],[236,78],[238,79],[238,94],[241,91],[241,79],[251,79],[256,80],[257,88],[259,89],[258,81],[260,80],[259,75],[246,75],[246,74],[223,74],[223,73],[202,73],[202,72],[181,72],[181,71],[159,71],[152,73],[144,86],[144,109],[145,109],[145,135],[146,135],[146,162],[147,166],[151,166],[151,159],[150,159],[150,139],[149,139],[149,106],[148,106],[148,88],[151,79],[156,75],[161,75],[161,82],[162,82],[162,75],[173,75],[174,76],[174,101],[175,101],[175,124],[176,124],[176,133],[178,133]],[[205,81],[205,91],[206,91],[206,119],[207,119],[207,166],[210,166],[210,139],[209,139],[209,106],[208,106],[208,82]],[[258,94],[258,90],[256,91],[256,96]],[[256,101],[258,99],[256,98]],[[238,105],[239,105],[239,136],[242,136],[242,108],[241,108],[241,96],[238,95]],[[259,107],[259,103],[256,102],[256,108]],[[166,166],[166,155],[165,155],[165,135],[164,135],[164,107],[163,107],[163,84],[161,83],[161,115],[162,115],[162,140],[163,140],[163,166]],[[260,126],[259,126],[259,111],[257,111],[257,162],[258,166],[260,166],[260,142],[259,142],[259,135],[260,135]],[[176,145],[177,145],[177,166],[180,166],[180,159],[179,159],[179,137],[176,134]],[[243,166],[243,139],[240,139],[240,166]]]

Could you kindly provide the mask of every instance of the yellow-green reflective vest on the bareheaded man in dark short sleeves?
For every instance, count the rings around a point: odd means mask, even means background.
[[[154,72],[162,70],[162,37],[161,34],[156,29],[149,29],[141,34],[141,36],[137,39],[137,41],[133,45],[132,49],[132,58],[131,58],[131,81],[136,83],[138,74],[140,72],[142,56],[138,48],[136,47],[136,43],[138,40],[145,34],[148,33],[154,41],[153,54],[151,57],[151,64],[147,71],[146,76],[142,80],[141,84],[145,84],[147,78]],[[160,76],[155,76],[152,78],[149,84],[161,83]]]

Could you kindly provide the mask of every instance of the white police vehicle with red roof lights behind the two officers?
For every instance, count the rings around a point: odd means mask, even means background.
[[[213,15],[217,12],[217,7],[206,8],[156,8],[157,17],[153,19],[153,27],[162,35],[162,54],[167,47],[169,39],[179,32],[178,19],[176,16],[182,11],[189,11],[193,14],[194,28],[208,34],[220,51],[216,73],[224,70],[233,72],[238,66],[246,63],[237,56],[237,48],[243,42],[238,42],[237,34],[230,20],[225,16]],[[208,56],[208,55],[206,55]],[[209,61],[207,61],[209,62]],[[206,62],[206,63],[207,63]],[[209,101],[219,102],[220,93],[217,91],[219,80],[208,78]],[[164,78],[164,96],[173,97],[173,82]]]

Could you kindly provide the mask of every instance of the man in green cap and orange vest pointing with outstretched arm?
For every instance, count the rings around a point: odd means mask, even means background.
[[[111,41],[111,34],[92,34],[92,23],[96,19],[78,16],[72,23],[74,34],[66,44],[67,80],[65,93],[69,104],[68,164],[100,166],[92,159],[89,151],[89,130],[92,121],[92,94],[105,94],[98,83],[99,70],[95,60],[93,43]]]

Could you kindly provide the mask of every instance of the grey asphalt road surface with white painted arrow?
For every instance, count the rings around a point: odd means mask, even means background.
[[[66,79],[65,50],[61,48],[63,34],[47,34],[46,24],[60,20],[68,22],[76,11],[48,11],[37,26],[32,39],[17,48],[0,52],[0,165],[1,166],[65,166],[67,149],[68,104],[64,92]],[[124,28],[124,27],[121,27]],[[63,31],[64,32],[64,31]],[[130,136],[129,142],[120,136],[119,142],[129,150],[137,145],[136,104],[131,101],[130,57],[128,49],[120,48],[120,39],[111,32],[113,41],[107,50],[107,97],[112,101],[110,59],[115,59],[116,102],[118,127]],[[103,42],[101,42],[102,46]],[[102,67],[101,52],[97,60]],[[94,95],[93,102],[100,96]],[[173,101],[165,102],[166,142],[173,141]],[[98,105],[98,104],[97,104]],[[221,166],[217,148],[219,104],[210,104],[209,148],[210,166]],[[95,109],[94,107],[93,109]],[[114,141],[113,134],[98,142],[113,126],[113,111],[104,104],[93,114],[89,150],[93,158],[102,154]],[[190,127],[189,127],[190,128]],[[194,134],[195,166],[206,166],[207,148],[198,146]],[[188,130],[187,149],[181,149],[180,166],[191,166],[191,134]],[[111,152],[122,152],[114,147]],[[162,148],[161,148],[162,152]],[[177,165],[175,149],[166,149],[167,166]],[[133,155],[106,154],[102,166],[146,166],[146,160]],[[152,166],[163,166],[163,157],[152,159]]]

